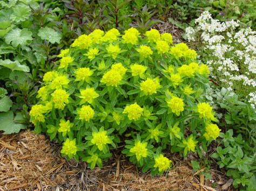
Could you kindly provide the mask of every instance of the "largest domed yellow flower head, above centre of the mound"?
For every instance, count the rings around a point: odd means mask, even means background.
[[[115,86],[122,81],[123,77],[117,70],[109,70],[102,76],[102,80],[100,82],[105,83],[106,86]]]

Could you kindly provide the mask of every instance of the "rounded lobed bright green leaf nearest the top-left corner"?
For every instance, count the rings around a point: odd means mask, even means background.
[[[10,18],[12,21],[16,23],[25,21],[26,19],[29,18],[31,14],[31,9],[29,8],[29,6],[25,4],[16,5],[14,8],[12,8],[12,10],[14,12],[12,13]]]

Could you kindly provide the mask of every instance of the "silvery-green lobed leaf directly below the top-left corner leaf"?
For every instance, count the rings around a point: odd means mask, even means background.
[[[14,47],[18,45],[28,45],[28,40],[32,40],[32,32],[28,29],[12,29],[8,34],[6,34],[5,42],[10,44]]]

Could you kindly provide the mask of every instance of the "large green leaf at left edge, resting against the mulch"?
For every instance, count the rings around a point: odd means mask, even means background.
[[[18,133],[21,129],[25,129],[23,124],[14,123],[14,112],[8,111],[0,114],[0,131],[4,134]]]

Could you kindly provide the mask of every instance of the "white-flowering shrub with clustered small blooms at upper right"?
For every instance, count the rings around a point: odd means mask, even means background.
[[[188,41],[200,50],[201,60],[221,86],[256,107],[256,31],[239,30],[239,21],[219,22],[205,11],[194,28],[187,27]]]

